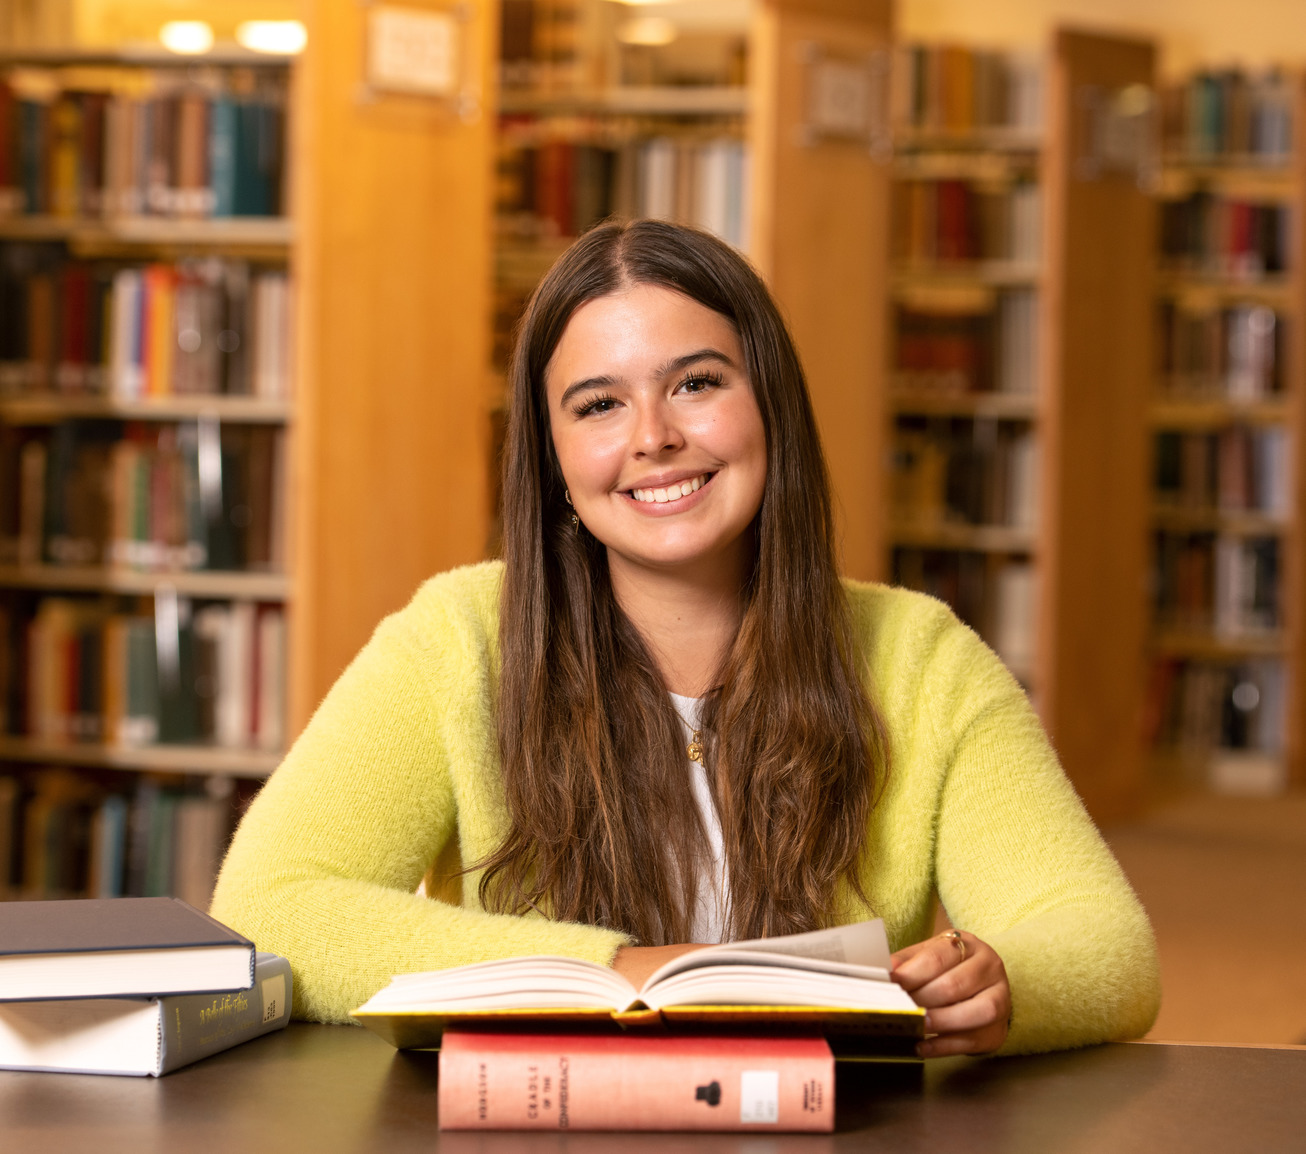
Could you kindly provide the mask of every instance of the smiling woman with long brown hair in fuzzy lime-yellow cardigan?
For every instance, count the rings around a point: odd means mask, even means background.
[[[223,864],[213,912],[291,959],[296,1013],[883,916],[926,1056],[1144,1033],[1147,918],[1019,685],[938,602],[840,582],[752,270],[597,228],[537,290],[511,390],[503,563],[377,628]],[[960,932],[927,936],[935,889]]]

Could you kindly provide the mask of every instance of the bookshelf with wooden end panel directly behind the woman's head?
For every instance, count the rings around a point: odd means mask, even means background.
[[[620,44],[637,8],[509,0],[502,10],[491,410],[512,325],[575,234],[609,214],[705,226],[744,251],[780,300],[821,426],[845,572],[883,576],[874,462],[887,166],[874,124],[859,137],[804,129],[814,59],[874,72],[887,0],[673,4],[680,35],[652,50]]]

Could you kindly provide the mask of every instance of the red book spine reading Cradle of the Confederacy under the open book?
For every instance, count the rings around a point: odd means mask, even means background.
[[[821,1038],[444,1035],[444,1131],[835,1128]]]

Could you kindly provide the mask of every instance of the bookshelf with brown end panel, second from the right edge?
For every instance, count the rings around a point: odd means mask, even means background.
[[[889,572],[994,645],[1098,819],[1144,785],[1153,69],[1060,30],[893,76]]]

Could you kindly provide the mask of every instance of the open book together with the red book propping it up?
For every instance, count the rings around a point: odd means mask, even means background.
[[[835,1057],[914,1060],[879,919],[683,954],[635,988],[563,957],[402,974],[354,1017],[440,1048],[441,1129],[832,1131]]]

